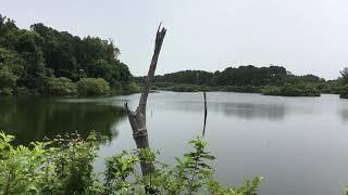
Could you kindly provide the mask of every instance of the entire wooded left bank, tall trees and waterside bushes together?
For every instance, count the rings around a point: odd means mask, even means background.
[[[137,90],[112,40],[0,15],[0,94],[97,95]]]

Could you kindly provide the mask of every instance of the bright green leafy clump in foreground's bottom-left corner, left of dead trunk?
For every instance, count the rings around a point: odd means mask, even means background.
[[[0,194],[96,193],[97,138],[74,133],[26,147],[14,146],[14,138],[0,132]]]

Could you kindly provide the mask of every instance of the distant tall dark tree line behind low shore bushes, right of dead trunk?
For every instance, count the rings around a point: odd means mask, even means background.
[[[142,77],[136,78],[138,82]],[[156,82],[188,83],[198,86],[283,86],[295,82],[325,82],[314,75],[295,76],[282,66],[253,65],[227,67],[223,72],[182,70],[154,77]]]

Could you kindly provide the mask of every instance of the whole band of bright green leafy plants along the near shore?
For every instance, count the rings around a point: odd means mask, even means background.
[[[94,160],[103,141],[91,132],[58,135],[53,140],[14,145],[14,138],[0,132],[0,194],[211,194],[254,195],[261,178],[246,181],[240,187],[225,188],[214,178],[207,151],[200,138],[189,144],[192,151],[175,158],[176,166],[157,161],[148,150],[124,151],[105,159],[105,171],[96,173]],[[141,177],[138,162],[154,165],[151,174]]]

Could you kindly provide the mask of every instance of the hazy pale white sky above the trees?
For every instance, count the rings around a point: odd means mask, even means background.
[[[158,74],[274,64],[333,79],[348,66],[347,0],[0,0],[0,13],[23,28],[42,22],[111,38],[136,76],[147,73],[161,21]]]

